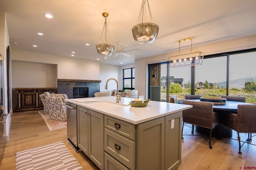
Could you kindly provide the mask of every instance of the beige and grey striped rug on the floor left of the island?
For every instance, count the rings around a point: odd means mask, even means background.
[[[16,170],[83,170],[62,141],[16,153]]]

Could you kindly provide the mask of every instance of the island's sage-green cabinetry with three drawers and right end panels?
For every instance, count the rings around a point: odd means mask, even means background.
[[[134,125],[105,115],[105,162],[109,162],[105,169],[120,164],[131,170],[178,169],[181,119],[180,111]]]

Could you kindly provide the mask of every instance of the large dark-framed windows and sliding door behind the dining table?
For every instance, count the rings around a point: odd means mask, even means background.
[[[198,94],[203,97],[246,96],[246,102],[255,103],[255,55],[256,48],[204,56],[203,64],[198,66],[170,68],[168,62],[149,64],[148,94],[152,93],[151,86],[161,86],[158,98],[162,102],[168,102],[171,96],[180,100],[186,94]],[[152,66],[156,65],[160,68],[155,73]],[[160,80],[160,83],[152,85],[152,80]]]

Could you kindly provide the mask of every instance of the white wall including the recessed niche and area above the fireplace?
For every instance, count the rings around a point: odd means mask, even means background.
[[[58,79],[100,80],[99,62],[17,49],[11,50],[11,57],[14,108],[14,88],[57,88]]]

